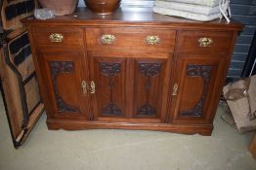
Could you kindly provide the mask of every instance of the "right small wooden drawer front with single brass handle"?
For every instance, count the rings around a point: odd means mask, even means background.
[[[219,31],[182,31],[178,51],[203,51],[207,53],[229,51],[232,33]]]

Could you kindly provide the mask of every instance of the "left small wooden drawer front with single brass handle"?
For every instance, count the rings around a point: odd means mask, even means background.
[[[39,48],[77,49],[83,47],[83,29],[73,27],[34,27],[33,40]]]

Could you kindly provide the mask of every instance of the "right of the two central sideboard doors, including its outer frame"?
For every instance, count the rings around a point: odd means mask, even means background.
[[[133,118],[135,119],[159,121],[165,119],[171,59],[168,58],[168,54],[161,56],[163,58],[134,59]]]

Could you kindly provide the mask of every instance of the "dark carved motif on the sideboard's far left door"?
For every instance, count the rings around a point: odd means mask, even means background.
[[[68,106],[59,93],[57,77],[60,74],[69,74],[74,70],[74,63],[71,61],[49,61],[51,78],[54,85],[54,93],[57,102],[58,112],[78,112],[77,109]]]

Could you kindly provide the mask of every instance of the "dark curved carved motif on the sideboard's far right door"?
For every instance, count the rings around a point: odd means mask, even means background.
[[[181,116],[185,117],[202,117],[203,115],[203,105],[205,102],[207,88],[209,85],[209,79],[211,76],[211,66],[210,65],[188,65],[187,66],[187,75],[189,77],[201,77],[203,79],[203,92],[202,95],[196,103],[196,105],[188,111],[181,113]]]

